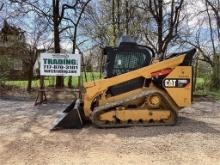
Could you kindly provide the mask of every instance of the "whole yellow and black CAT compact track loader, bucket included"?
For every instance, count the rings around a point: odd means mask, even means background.
[[[152,49],[124,37],[107,47],[105,78],[85,83],[83,100],[74,100],[52,130],[175,125],[192,102],[192,59],[196,50],[154,60]]]

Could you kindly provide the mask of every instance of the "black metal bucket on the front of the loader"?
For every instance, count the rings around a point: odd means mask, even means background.
[[[65,110],[64,113],[58,116],[54,127],[51,131],[61,129],[80,129],[83,127],[84,112],[80,99],[74,100]]]

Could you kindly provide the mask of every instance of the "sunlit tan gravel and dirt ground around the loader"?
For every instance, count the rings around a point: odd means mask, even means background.
[[[195,102],[176,126],[50,132],[65,106],[0,99],[0,164],[220,164],[220,102]]]

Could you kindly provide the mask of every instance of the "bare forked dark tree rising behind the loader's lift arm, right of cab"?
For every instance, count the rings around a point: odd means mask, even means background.
[[[145,39],[162,58],[169,43],[178,36],[179,24],[184,19],[181,17],[183,4],[184,0],[142,0],[137,6],[146,15],[150,14],[150,21],[146,22],[149,26],[144,31]]]

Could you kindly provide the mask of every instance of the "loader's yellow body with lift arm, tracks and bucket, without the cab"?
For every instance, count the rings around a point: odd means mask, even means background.
[[[88,120],[99,128],[175,125],[178,111],[191,106],[192,101],[192,66],[185,65],[187,59],[187,54],[178,54],[85,83],[83,101],[77,99],[71,103],[53,130],[82,128]],[[141,83],[132,88],[131,82],[137,79]],[[113,88],[118,93],[113,93]]]

